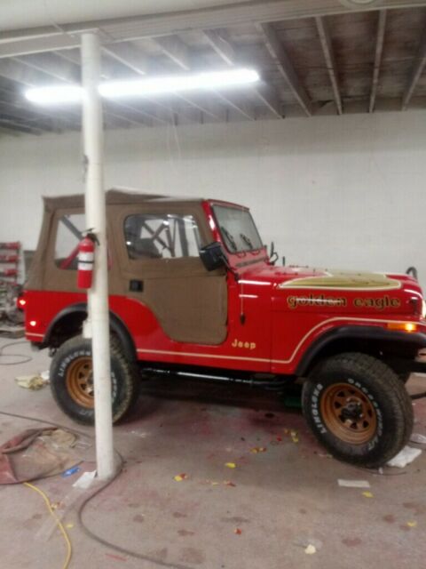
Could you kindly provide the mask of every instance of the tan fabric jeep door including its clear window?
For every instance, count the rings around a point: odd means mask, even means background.
[[[108,214],[120,264],[113,288],[146,305],[171,340],[224,342],[226,275],[201,263],[199,250],[212,240],[201,203],[114,205]]]

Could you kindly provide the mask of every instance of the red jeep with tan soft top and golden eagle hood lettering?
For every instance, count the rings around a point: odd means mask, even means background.
[[[405,382],[426,346],[413,277],[276,267],[248,208],[214,199],[110,190],[106,215],[114,421],[138,397],[141,370],[266,387],[299,379],[306,421],[336,457],[377,467],[406,445]],[[85,229],[83,196],[44,199],[24,301],[28,340],[53,355],[53,397],[91,423],[76,287]]]

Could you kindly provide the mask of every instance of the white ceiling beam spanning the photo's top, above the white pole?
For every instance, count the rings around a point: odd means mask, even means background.
[[[382,0],[381,9],[424,7],[424,0]],[[11,51],[3,57],[51,51],[76,47],[79,44],[78,34],[89,29],[102,29],[106,32],[108,43],[133,41],[153,36],[170,36],[177,31],[217,29],[246,24],[259,24],[281,20],[296,20],[354,12],[371,12],[377,10],[375,3],[344,3],[341,0],[248,0],[239,4],[229,4],[188,10],[183,12],[160,13],[152,16],[134,16],[114,20],[92,20],[75,24],[61,25],[59,31],[54,26],[4,31],[0,39],[3,48],[9,44]],[[17,39],[18,36],[18,39]],[[48,38],[50,45],[43,41]],[[75,43],[76,42],[76,43]],[[15,50],[15,51],[13,51]],[[29,51],[28,51],[29,50]],[[0,49],[0,57],[2,50]]]

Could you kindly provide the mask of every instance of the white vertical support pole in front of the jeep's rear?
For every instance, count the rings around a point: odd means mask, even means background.
[[[87,295],[95,392],[95,434],[98,477],[113,477],[113,417],[109,352],[106,206],[103,180],[102,105],[99,96],[100,44],[95,32],[82,35],[83,139],[86,164],[87,228],[98,237],[94,280]]]

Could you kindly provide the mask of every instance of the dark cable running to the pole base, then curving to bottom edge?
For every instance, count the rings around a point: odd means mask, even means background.
[[[51,421],[45,421],[44,419],[38,419],[36,417],[29,417],[28,415],[20,415],[18,413],[8,413],[6,411],[0,411],[0,415],[6,415],[8,417],[16,417],[17,419],[23,419],[25,421],[35,421],[38,423],[44,423],[46,425],[52,425],[53,427],[57,427],[59,429],[66,429],[66,430],[70,431],[71,433],[75,433],[77,435],[83,435],[83,437],[88,437],[91,439],[94,438],[91,435],[87,435],[86,433],[83,433],[83,432],[75,430],[75,429],[69,429],[69,427],[65,427],[64,425],[60,425],[59,423],[53,423]],[[96,496],[98,496],[99,493],[103,492],[108,486],[112,485],[113,482],[122,473],[122,466],[123,466],[125,461],[122,458],[122,455],[116,449],[114,449],[114,453],[116,454],[116,456],[118,457],[118,460],[119,460],[119,466],[117,468],[117,472],[114,474],[114,477],[112,477],[111,480],[108,480],[105,485],[100,486],[98,488],[98,490],[96,490],[90,496],[85,498],[81,502],[81,504],[79,505],[78,509],[76,510],[77,520],[78,520],[78,523],[79,523],[81,529],[83,530],[83,533],[85,533],[88,537],[90,537],[91,540],[97,541],[101,545],[103,545],[109,549],[114,549],[114,551],[122,553],[123,555],[135,557],[137,559],[141,559],[142,561],[148,561],[149,563],[153,563],[154,565],[159,565],[162,567],[169,567],[170,569],[193,569],[189,565],[166,563],[165,561],[160,561],[159,559],[155,559],[155,557],[150,557],[150,556],[144,555],[143,553],[138,553],[138,551],[132,551],[131,549],[122,548],[120,545],[116,545],[115,543],[112,543],[111,541],[104,540],[102,537],[100,537],[96,533],[92,532],[91,529],[89,529],[89,527],[84,524],[84,522],[83,522],[83,511],[84,511],[84,509],[86,509],[86,507],[89,505],[89,503]]]

